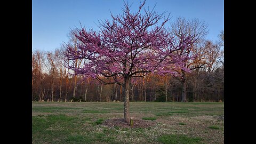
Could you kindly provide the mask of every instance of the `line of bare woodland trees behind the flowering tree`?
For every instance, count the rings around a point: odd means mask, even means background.
[[[219,42],[202,41],[193,48],[193,60],[187,61],[191,73],[181,76],[148,74],[133,78],[130,101],[224,101],[224,61],[221,31]],[[70,35],[67,45],[76,46]],[[33,51],[32,54],[32,101],[123,101],[121,85],[103,85],[96,79],[73,75],[67,69],[63,52],[65,45],[55,51]],[[82,67],[85,61],[75,61]]]

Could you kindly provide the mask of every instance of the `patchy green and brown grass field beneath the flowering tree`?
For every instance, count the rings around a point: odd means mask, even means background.
[[[106,125],[123,102],[32,102],[33,143],[224,143],[223,102],[130,102],[151,126]]]

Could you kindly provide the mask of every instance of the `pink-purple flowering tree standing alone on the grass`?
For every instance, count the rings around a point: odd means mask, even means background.
[[[182,44],[174,44],[173,37],[165,27],[170,19],[166,12],[158,14],[142,9],[132,13],[124,3],[123,14],[111,14],[111,21],[101,21],[99,31],[85,27],[74,33],[78,39],[77,49],[67,46],[68,68],[74,75],[93,77],[103,84],[119,84],[124,87],[124,122],[130,122],[129,95],[133,77],[143,77],[149,73],[176,75],[173,68],[183,69],[186,57],[177,57],[175,52],[187,49],[190,37],[183,37]],[[143,10],[143,14],[141,14]],[[75,67],[77,59],[83,59],[81,67]]]

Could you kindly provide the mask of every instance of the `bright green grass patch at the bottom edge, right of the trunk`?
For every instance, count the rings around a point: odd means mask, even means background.
[[[190,138],[186,135],[162,135],[157,139],[159,142],[165,143],[165,144],[194,144],[194,143],[201,143],[202,138]]]

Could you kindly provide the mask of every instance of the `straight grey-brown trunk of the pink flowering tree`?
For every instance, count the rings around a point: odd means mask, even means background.
[[[129,85],[130,77],[124,79],[124,122],[130,122],[130,106],[129,106]]]

